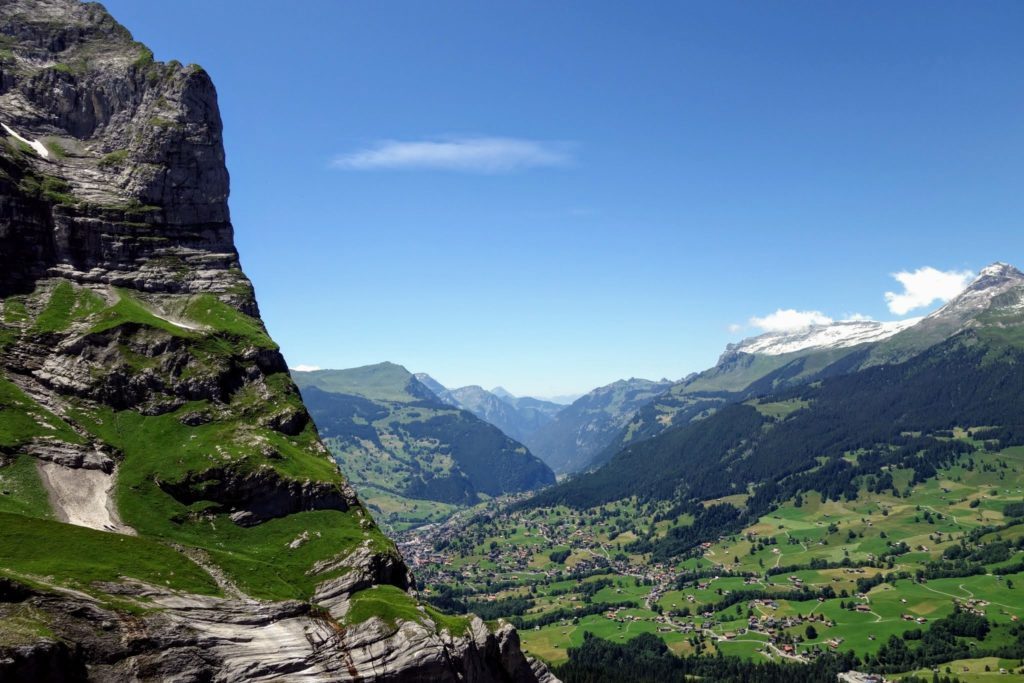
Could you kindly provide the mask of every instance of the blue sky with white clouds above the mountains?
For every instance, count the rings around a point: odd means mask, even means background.
[[[582,392],[1024,261],[1019,2],[105,5],[212,75],[293,366]]]

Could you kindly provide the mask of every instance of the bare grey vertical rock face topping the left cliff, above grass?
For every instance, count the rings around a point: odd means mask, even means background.
[[[0,63],[0,123],[46,147],[5,160],[3,179],[50,183],[4,193],[0,286],[49,273],[147,291],[245,289],[206,72],[154,62],[98,5],[14,0],[0,23],[16,48]]]

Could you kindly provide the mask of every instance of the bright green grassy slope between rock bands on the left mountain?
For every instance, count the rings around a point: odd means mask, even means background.
[[[91,371],[89,360],[78,361],[87,364],[87,376],[93,372],[97,382],[114,386],[120,378],[146,378],[150,387],[137,397],[131,389],[112,393],[104,402],[97,400],[106,396],[103,384],[79,396],[52,393],[10,367],[0,376],[0,543],[7,573],[47,575],[48,583],[90,592],[96,581],[131,577],[218,593],[210,574],[173,543],[204,551],[227,581],[253,597],[308,599],[315,583],[308,570],[316,561],[367,540],[393,552],[376,527],[360,524],[356,510],[326,502],[343,500],[345,479],[312,423],[303,420],[284,365],[268,360],[256,381],[225,382],[245,356],[275,353],[258,319],[211,295],[157,299],[57,280],[4,299],[0,321],[4,353],[60,338],[82,340],[84,347],[105,349]],[[205,387],[206,397],[175,395],[182,383]],[[46,403],[22,386],[47,396]],[[138,537],[48,521],[51,497],[40,461],[30,455],[40,443],[112,454],[115,503]],[[289,482],[318,486],[325,509],[299,512],[286,503],[256,511],[262,523],[240,525],[231,514],[258,501],[222,487],[224,481],[259,481],[263,493],[254,495],[271,499]],[[314,531],[315,541],[289,549],[291,541]]]

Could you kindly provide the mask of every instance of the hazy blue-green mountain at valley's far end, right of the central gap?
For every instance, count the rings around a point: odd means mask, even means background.
[[[594,389],[555,415],[530,438],[530,449],[557,473],[577,472],[612,441],[636,411],[672,382],[620,380]]]

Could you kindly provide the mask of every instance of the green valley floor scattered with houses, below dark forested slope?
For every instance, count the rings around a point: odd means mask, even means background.
[[[683,655],[864,657],[953,613],[984,617],[990,644],[1024,613],[1024,525],[1007,514],[1017,514],[1021,451],[978,454],[912,487],[894,470],[891,492],[853,501],[806,495],[672,562],[652,561],[642,542],[690,518],[636,500],[586,510],[492,500],[401,535],[399,549],[422,597],[511,622],[527,651],[554,664],[585,633],[656,634]],[[977,568],[949,570],[964,561]],[[987,680],[1017,676],[1022,663],[964,657],[937,669],[946,668]]]

